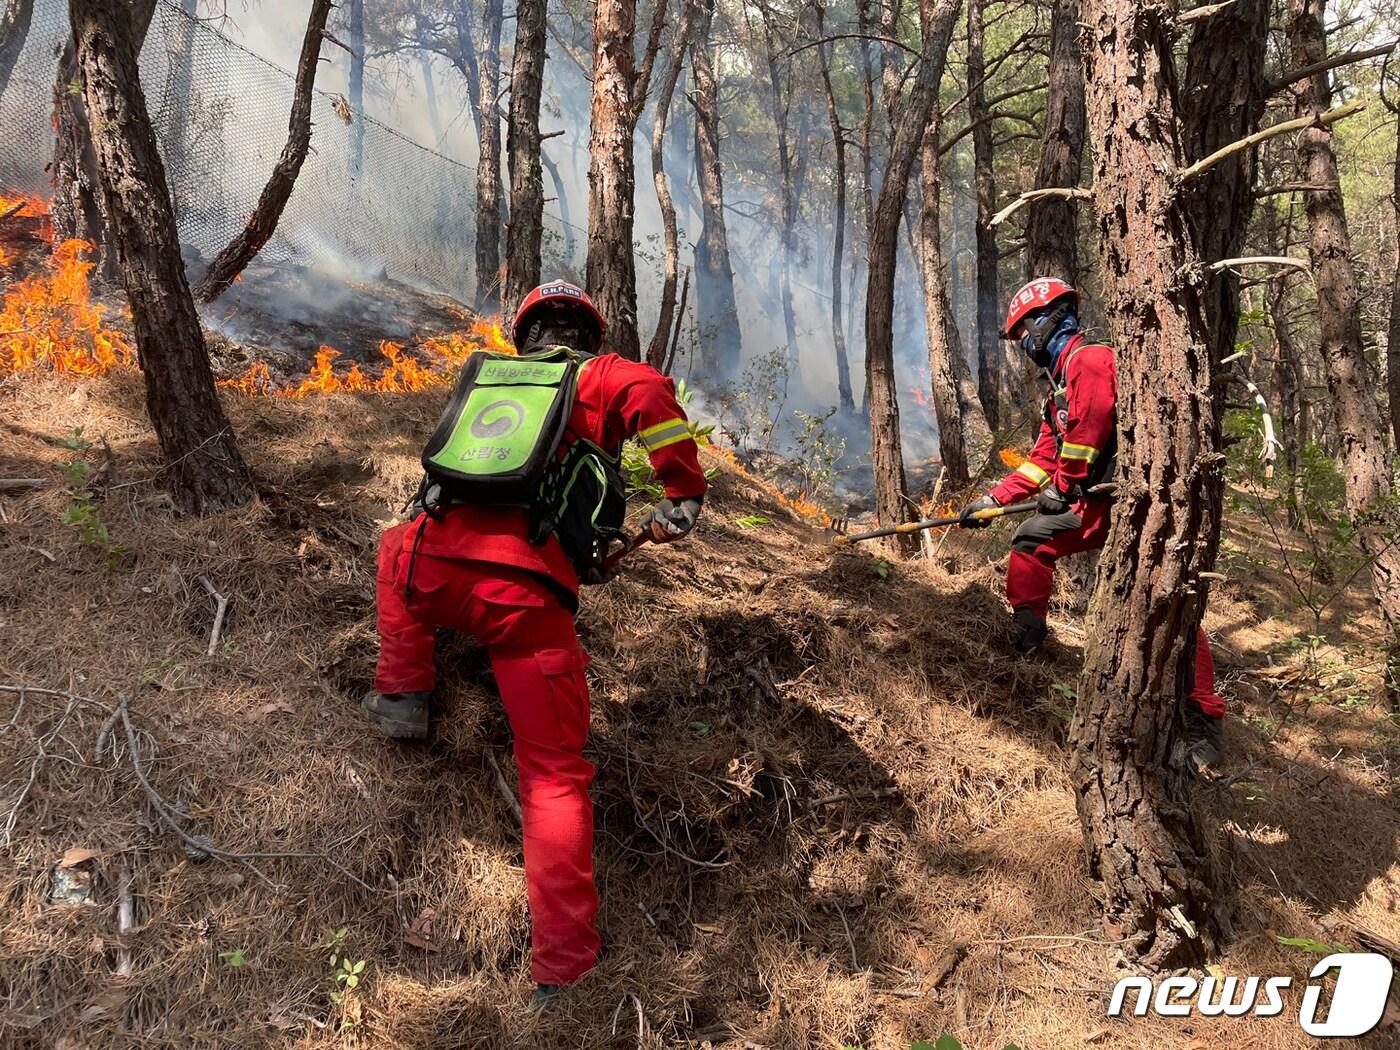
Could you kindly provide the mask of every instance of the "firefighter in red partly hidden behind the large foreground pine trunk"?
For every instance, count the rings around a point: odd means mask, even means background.
[[[1054,563],[1067,554],[1099,550],[1109,532],[1117,451],[1117,370],[1113,350],[1079,332],[1079,293],[1056,277],[1022,287],[1007,311],[1004,339],[1015,340],[1044,370],[1050,395],[1030,458],[987,496],[962,510],[963,528],[990,524],[973,511],[1036,496],[1036,514],[1011,539],[1007,599],[1012,608],[1012,647],[1030,655],[1046,638],[1046,612]],[[1215,692],[1210,641],[1196,637],[1196,683],[1186,708],[1187,756],[1193,767],[1222,757],[1225,701]]]

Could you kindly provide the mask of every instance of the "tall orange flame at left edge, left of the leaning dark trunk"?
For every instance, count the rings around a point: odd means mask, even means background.
[[[87,241],[64,241],[43,273],[10,286],[0,309],[0,375],[48,367],[60,375],[102,375],[134,361],[130,343],[102,323],[91,301]]]

